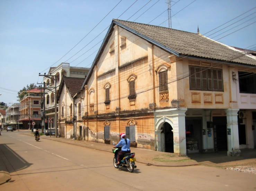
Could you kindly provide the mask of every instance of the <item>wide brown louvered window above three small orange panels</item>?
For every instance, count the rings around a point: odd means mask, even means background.
[[[222,69],[189,66],[191,90],[224,91]]]

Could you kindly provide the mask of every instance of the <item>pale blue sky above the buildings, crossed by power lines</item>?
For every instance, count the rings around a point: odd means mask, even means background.
[[[112,19],[168,27],[166,0],[120,1],[0,0],[0,102],[17,103],[20,89],[42,83],[38,73],[61,62],[90,67]],[[199,26],[201,34],[229,46],[256,44],[256,0],[174,0],[171,5],[173,29],[196,33]]]

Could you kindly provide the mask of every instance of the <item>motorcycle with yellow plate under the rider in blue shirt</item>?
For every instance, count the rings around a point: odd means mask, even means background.
[[[113,143],[115,144],[115,143]],[[122,161],[120,161],[120,164],[116,164],[117,162],[117,154],[118,152],[120,152],[122,149],[122,147],[117,147],[116,149],[112,149],[113,153],[114,153],[114,159],[113,159],[113,163],[114,163],[114,167],[116,169],[118,169],[119,167],[124,167],[127,168],[127,170],[129,172],[133,172],[134,168],[137,168],[137,166],[135,165],[135,161],[136,159],[134,158],[135,153],[125,153],[124,154],[124,158]]]

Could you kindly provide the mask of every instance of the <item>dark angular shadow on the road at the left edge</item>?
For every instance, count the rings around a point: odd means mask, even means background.
[[[20,157],[20,155],[18,155],[14,150],[8,147],[8,144],[0,144],[0,150],[0,166],[3,168],[7,166],[9,173],[26,169],[30,165],[32,165],[32,163],[28,163],[26,160]],[[3,164],[3,162],[5,164]],[[11,167],[9,166],[9,164],[11,164]]]

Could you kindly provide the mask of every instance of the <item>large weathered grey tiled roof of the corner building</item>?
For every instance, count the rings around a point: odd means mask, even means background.
[[[177,56],[193,56],[256,65],[256,59],[197,33],[117,19],[113,21],[121,27],[131,29],[131,32],[139,34],[138,36],[142,38],[144,36],[146,40],[150,39],[173,50],[174,53],[178,53]]]

